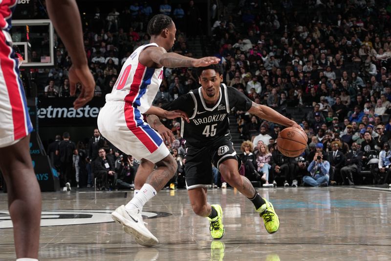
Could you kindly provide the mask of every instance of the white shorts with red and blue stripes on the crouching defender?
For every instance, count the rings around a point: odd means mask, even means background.
[[[161,136],[144,122],[137,108],[124,101],[109,101],[98,116],[100,133],[136,160],[157,163],[170,154]]]

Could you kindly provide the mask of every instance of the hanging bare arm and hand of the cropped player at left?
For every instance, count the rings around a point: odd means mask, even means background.
[[[76,83],[82,84],[82,92],[73,103],[77,109],[92,99],[95,89],[84,50],[79,9],[75,0],[46,0],[46,6],[49,18],[72,59],[69,69],[70,95],[75,95]]]

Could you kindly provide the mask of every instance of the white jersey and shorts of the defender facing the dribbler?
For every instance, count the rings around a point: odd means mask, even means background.
[[[156,163],[170,152],[142,116],[151,107],[163,79],[163,67],[148,68],[138,61],[141,51],[150,46],[157,44],[138,47],[124,63],[99,112],[98,128],[118,149],[137,160]]]

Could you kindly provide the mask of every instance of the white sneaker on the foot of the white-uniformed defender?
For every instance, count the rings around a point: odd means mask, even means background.
[[[153,246],[159,242],[155,236],[145,227],[143,217],[139,209],[127,210],[122,205],[118,207],[111,218],[123,225],[126,233],[132,235],[137,243],[143,246]]]

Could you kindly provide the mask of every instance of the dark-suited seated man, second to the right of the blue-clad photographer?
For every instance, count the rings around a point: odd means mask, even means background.
[[[341,168],[344,185],[354,185],[354,176],[361,171],[363,151],[357,150],[357,147],[357,143],[353,142],[350,152],[346,155],[345,166]]]

